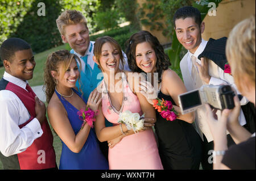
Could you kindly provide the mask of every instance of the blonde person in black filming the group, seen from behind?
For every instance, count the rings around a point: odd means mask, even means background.
[[[255,107],[255,15],[238,23],[230,32],[226,56],[238,90]],[[238,96],[234,96],[234,104],[233,110],[222,111],[218,121],[206,105],[207,123],[214,139],[213,169],[255,170],[255,132],[251,134],[238,123]],[[229,149],[226,130],[237,144]]]

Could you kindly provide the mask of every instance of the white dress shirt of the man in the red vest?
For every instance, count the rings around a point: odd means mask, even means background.
[[[3,78],[26,90],[27,81],[13,77],[5,71]],[[34,118],[23,128],[20,124],[30,119],[30,113],[14,92],[0,91],[0,151],[6,157],[25,151],[34,140],[42,136],[38,119]]]

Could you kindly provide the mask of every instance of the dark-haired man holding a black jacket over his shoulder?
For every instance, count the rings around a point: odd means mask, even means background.
[[[188,50],[180,61],[180,70],[184,85],[187,91],[200,89],[203,85],[227,84],[232,85],[232,88],[236,89],[233,76],[224,71],[227,38],[222,37],[217,40],[210,38],[208,41],[204,40],[202,33],[204,32],[205,26],[207,25],[201,20],[200,11],[195,7],[181,7],[174,14],[174,27],[177,40]],[[247,104],[247,100],[243,98],[241,104]],[[213,136],[206,122],[207,116],[205,112],[204,106],[196,109],[195,129],[203,141],[201,165],[204,170],[211,170],[213,169]],[[216,111],[216,115],[220,116],[221,111]],[[246,124],[246,117],[242,110],[239,121],[241,125]],[[228,146],[235,144],[228,132],[227,137]]]

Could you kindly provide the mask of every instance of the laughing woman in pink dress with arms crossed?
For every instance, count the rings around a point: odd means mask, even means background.
[[[109,169],[163,169],[151,128],[154,124],[150,122],[155,120],[155,110],[142,94],[135,93],[134,80],[138,80],[139,74],[119,69],[119,62],[123,64],[122,50],[109,36],[96,39],[93,60],[104,74],[97,87],[102,92],[102,105],[94,125],[98,140],[109,143]],[[135,134],[118,123],[119,113],[127,110],[145,113],[142,131]],[[105,117],[113,123],[112,127],[105,127]]]

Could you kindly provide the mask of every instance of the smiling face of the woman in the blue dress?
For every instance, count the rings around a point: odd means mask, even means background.
[[[68,69],[64,70],[64,62],[59,65],[58,74],[55,76],[58,86],[75,87],[79,78],[79,68],[76,60],[73,58]]]

